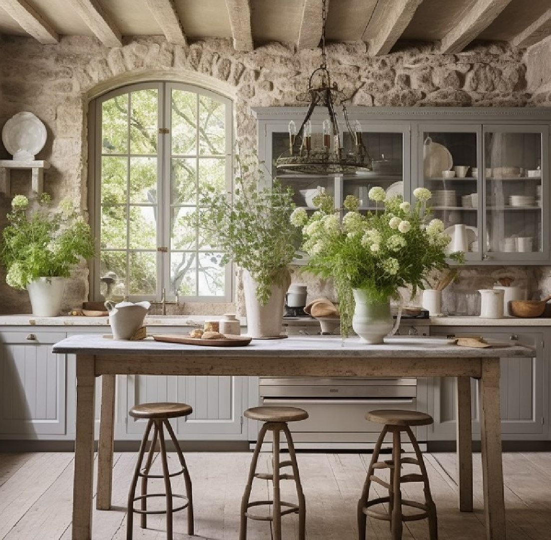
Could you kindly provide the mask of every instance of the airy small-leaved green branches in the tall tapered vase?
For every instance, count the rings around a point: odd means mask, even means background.
[[[289,218],[295,208],[293,190],[276,180],[258,189],[263,178],[258,165],[238,162],[234,200],[230,194],[207,189],[199,205],[199,227],[224,253],[220,264],[233,260],[257,282],[256,296],[265,305],[272,283],[282,284],[282,272],[293,260],[299,231]]]

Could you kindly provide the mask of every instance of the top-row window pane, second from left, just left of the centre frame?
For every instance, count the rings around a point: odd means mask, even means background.
[[[132,92],[130,115],[130,153],[156,154],[159,126],[157,90]]]

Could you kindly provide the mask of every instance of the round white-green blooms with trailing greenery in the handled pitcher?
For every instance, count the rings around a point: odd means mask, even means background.
[[[395,296],[398,287],[424,288],[431,270],[448,267],[446,257],[463,261],[463,253],[446,255],[450,237],[444,223],[430,219],[426,188],[413,192],[415,203],[401,196],[386,199],[385,190],[371,188],[369,198],[376,210],[365,215],[358,211],[358,197],[344,200],[346,211],[334,208],[331,195],[321,193],[314,198],[318,210],[308,216],[297,208],[291,223],[302,229],[302,249],[309,255],[306,269],[334,281],[341,313],[341,333],[348,334],[354,311],[353,289],[361,289],[376,302]],[[381,204],[381,209],[378,206]]]

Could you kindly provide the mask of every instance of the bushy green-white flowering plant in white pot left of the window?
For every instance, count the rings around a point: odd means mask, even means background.
[[[65,278],[81,257],[88,259],[95,251],[90,226],[73,203],[63,199],[55,211],[48,209],[50,203],[50,195],[43,193],[39,207],[31,211],[27,197],[16,195],[7,216],[9,224],[2,231],[6,282],[26,288],[33,314],[42,317],[59,313]]]

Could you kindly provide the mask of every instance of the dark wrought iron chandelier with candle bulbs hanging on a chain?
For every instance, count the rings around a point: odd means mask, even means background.
[[[325,52],[326,17],[326,0],[323,0],[321,66],[310,75],[306,92],[296,97],[298,101],[304,101],[310,103],[310,105],[298,131],[295,122],[292,120],[289,122],[289,151],[284,152],[277,159],[276,168],[279,172],[344,174],[353,173],[358,169],[371,170],[371,158],[362,141],[360,122],[355,120],[353,125],[350,125],[344,105],[348,98],[342,90],[339,90],[337,83],[331,81],[327,69]],[[310,117],[317,105],[327,108],[328,118],[323,120],[322,146],[312,148],[312,122]],[[336,106],[342,107],[344,122],[350,135],[350,141],[352,141],[353,148],[349,152],[344,150],[344,141],[335,112]],[[297,139],[300,140],[300,146]]]

